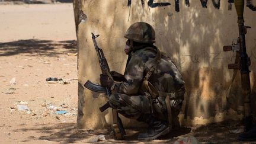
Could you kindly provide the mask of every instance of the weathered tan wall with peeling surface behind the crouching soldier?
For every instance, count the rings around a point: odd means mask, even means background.
[[[165,0],[168,1],[168,0]],[[163,2],[163,1],[160,1]],[[180,12],[175,12],[174,1],[170,6],[150,8],[132,1],[127,7],[124,0],[81,1],[81,10],[87,16],[78,25],[78,78],[79,113],[78,127],[97,128],[108,126],[111,116],[108,111],[100,113],[98,107],[105,103],[103,94],[91,92],[82,87],[90,79],[100,83],[101,73],[97,55],[91,40],[91,32],[100,34],[98,46],[102,47],[112,71],[124,72],[126,55],[123,34],[137,22],[145,21],[156,31],[156,46],[172,57],[185,79],[185,101],[180,114],[182,124],[205,124],[226,119],[242,119],[243,107],[240,77],[236,76],[231,85],[233,70],[228,63],[235,61],[235,53],[223,52],[223,45],[231,44],[238,37],[235,7],[228,11],[228,2],[221,1],[220,9],[201,7],[200,1],[193,1],[186,7],[180,1]],[[256,71],[256,12],[245,8],[245,22],[252,26],[247,34],[248,55],[251,57],[252,96],[255,95]],[[129,21],[128,21],[129,19]],[[239,72],[238,72],[239,74]],[[226,100],[229,96],[229,102]],[[255,98],[252,98],[255,102]],[[255,103],[254,103],[255,104]],[[184,117],[187,118],[184,120]],[[125,119],[126,126],[137,126]]]

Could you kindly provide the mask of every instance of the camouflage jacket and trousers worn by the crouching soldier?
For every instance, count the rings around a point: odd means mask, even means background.
[[[167,106],[165,97],[159,96],[155,100],[143,95],[140,87],[143,78],[149,69],[155,64],[157,48],[155,46],[133,47],[130,53],[130,59],[127,61],[124,72],[124,82],[114,82],[111,87],[113,94],[109,98],[111,107],[116,108],[123,116],[136,119],[141,114],[151,114],[162,120],[168,120]],[[184,80],[177,67],[167,56],[162,58],[151,77],[149,82],[162,92],[174,92],[182,89],[179,95],[170,100],[173,117],[180,113],[182,101],[184,99]]]

